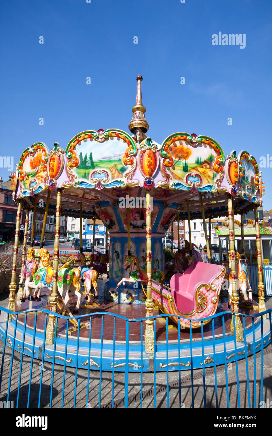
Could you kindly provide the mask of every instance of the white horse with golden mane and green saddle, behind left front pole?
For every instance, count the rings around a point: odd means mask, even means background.
[[[38,270],[33,276],[33,282],[28,283],[28,286],[33,288],[34,295],[41,296],[42,289],[48,289],[53,286],[53,267],[50,261],[50,255],[44,248],[38,250],[41,258]],[[40,266],[42,265],[42,266]],[[73,314],[78,313],[79,305],[81,303],[82,292],[80,290],[80,271],[78,268],[69,267],[69,262],[65,263],[58,269],[58,292],[62,297],[63,304],[59,310],[59,313],[63,313],[66,310],[67,304],[70,300],[70,295],[77,296],[76,308]],[[71,294],[69,295],[69,291]]]

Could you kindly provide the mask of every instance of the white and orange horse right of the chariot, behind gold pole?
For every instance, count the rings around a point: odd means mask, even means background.
[[[238,283],[237,290],[241,290],[241,293],[244,297],[244,301],[252,303],[252,291],[251,286],[249,284],[248,275],[245,271],[247,269],[243,268],[242,262],[241,262],[241,256],[238,252],[235,253],[235,266],[236,266],[236,272],[235,272],[235,279],[237,280],[236,283]],[[228,258],[229,258],[229,267],[231,268],[231,254],[228,252]],[[248,294],[249,293],[249,297]],[[231,273],[229,275],[229,288],[228,288],[228,304],[231,305],[231,295],[232,295],[232,277]]]

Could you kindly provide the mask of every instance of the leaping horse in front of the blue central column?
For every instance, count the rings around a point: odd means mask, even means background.
[[[119,288],[121,283],[123,283],[126,288],[125,282],[134,283],[138,282],[146,282],[146,271],[142,271],[139,266],[139,262],[136,256],[134,255],[126,255],[124,258],[123,268],[125,271],[129,268],[129,278],[123,277],[119,283],[117,283],[116,288]],[[165,279],[165,273],[162,271],[157,271],[157,268],[152,269],[152,279],[159,280],[160,283],[163,283]]]

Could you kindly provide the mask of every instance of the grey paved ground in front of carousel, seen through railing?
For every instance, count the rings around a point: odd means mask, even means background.
[[[7,294],[0,296],[0,305],[7,306]],[[266,307],[272,307],[272,299],[266,303]],[[0,341],[0,349],[3,350],[3,343]],[[4,365],[3,365],[3,381],[0,392],[0,401],[7,399],[8,380],[10,371],[12,372],[12,384],[10,386],[10,401],[17,401],[18,395],[18,380],[20,369],[21,353],[14,352],[12,368],[11,349],[7,347]],[[1,361],[0,361],[1,362]],[[30,374],[31,358],[24,355],[23,366],[21,372],[21,384],[19,391],[19,407],[27,406],[28,392],[29,406],[37,407],[39,398],[39,388],[41,381],[41,361],[33,360],[32,374]],[[194,407],[204,407],[205,395],[206,406],[213,408],[227,407],[227,395],[229,396],[229,404],[231,407],[239,407],[238,392],[240,394],[240,406],[251,407],[254,405],[259,407],[261,401],[261,372],[262,360],[261,353],[256,354],[256,361],[253,356],[248,358],[249,382],[246,379],[245,360],[227,364],[227,380],[224,365],[218,366],[216,375],[213,368],[207,368],[205,371],[205,382],[203,379],[203,370],[198,369],[193,371],[193,382],[191,371],[181,371],[180,389],[179,389],[179,373],[178,371],[169,372],[169,394],[167,392],[167,373],[157,372],[144,373],[142,379],[143,407],[169,407],[179,408],[192,407],[192,398]],[[272,400],[272,352],[271,345],[265,348],[263,361],[263,388],[262,399]],[[255,382],[254,382],[254,374]],[[65,371],[65,388],[64,388],[64,407],[73,407],[74,394],[76,392],[76,407],[111,407],[112,402],[114,407],[124,407],[124,389],[125,389],[124,373],[115,373],[114,381],[112,372],[102,372],[100,379],[100,371],[90,371],[89,390],[87,388],[88,371],[86,369],[66,368]],[[31,385],[30,385],[31,379]],[[50,406],[50,392],[52,389],[52,406],[61,407],[62,387],[64,373],[63,366],[55,364],[52,371],[52,364],[45,363],[42,375],[42,390],[41,390],[41,407]],[[155,386],[154,386],[155,381]],[[101,383],[101,390],[100,390]],[[141,406],[141,375],[139,373],[129,373],[128,377],[128,406],[138,408]],[[193,397],[192,397],[193,385]],[[226,387],[228,386],[228,388]],[[114,390],[112,389],[114,387]],[[216,400],[217,389],[217,400]],[[155,390],[155,395],[154,395]],[[87,399],[87,392],[89,397]],[[99,396],[101,392],[101,396]],[[113,394],[112,394],[113,392]],[[249,403],[250,402],[250,403]]]

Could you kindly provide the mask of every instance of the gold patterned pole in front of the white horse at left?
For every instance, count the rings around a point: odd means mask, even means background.
[[[52,314],[49,315],[49,321],[46,327],[46,344],[54,344],[54,338],[55,338],[56,317],[54,313],[56,313],[57,302],[58,302],[59,227],[60,227],[61,202],[62,202],[62,192],[61,192],[61,188],[58,188],[57,206],[56,206],[54,262],[53,262],[53,286],[52,286],[52,294],[50,297],[50,311],[52,312]]]

